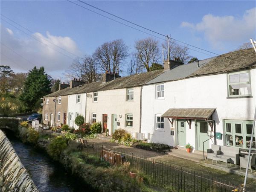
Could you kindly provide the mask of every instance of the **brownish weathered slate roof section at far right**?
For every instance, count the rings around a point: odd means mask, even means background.
[[[256,54],[254,49],[243,49],[215,57],[188,77],[227,73],[255,67]]]

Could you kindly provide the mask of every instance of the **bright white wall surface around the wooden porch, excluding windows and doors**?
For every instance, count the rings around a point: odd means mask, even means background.
[[[156,84],[143,86],[142,90],[142,133],[151,133],[154,143],[177,145],[177,122],[175,121],[175,135],[170,135],[171,123],[164,118],[164,130],[155,129],[155,114],[163,114],[169,108],[216,108],[213,119],[216,132],[224,133],[223,120],[253,120],[256,97],[256,69],[250,70],[252,98],[227,99],[227,74],[201,76],[179,81],[164,83],[165,98],[155,99]],[[186,143],[195,148],[195,120],[191,129],[186,123]],[[218,145],[224,145],[222,140],[216,140]],[[211,143],[209,143],[211,145]],[[207,147],[207,146],[206,146]]]

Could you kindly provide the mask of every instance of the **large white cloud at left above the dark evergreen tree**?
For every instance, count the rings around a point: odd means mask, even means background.
[[[0,25],[0,31],[2,42],[0,45],[0,63],[9,65],[16,71],[28,71],[34,65],[38,67],[44,66],[48,74],[59,78],[62,76],[61,73],[72,63],[72,58],[76,58],[76,55],[81,55],[76,42],[70,37],[54,36],[50,32],[46,32],[46,35],[36,32],[32,34],[34,38],[31,38],[13,33],[11,29],[5,28],[3,25]],[[20,57],[15,52],[23,57]]]

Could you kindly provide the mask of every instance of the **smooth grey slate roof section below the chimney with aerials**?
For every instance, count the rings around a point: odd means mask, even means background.
[[[160,76],[157,76],[155,79],[152,79],[151,81],[148,81],[145,84],[154,84],[154,83],[160,83],[160,82],[165,82],[165,81],[176,81],[179,79],[184,79],[187,76],[194,73],[196,70],[203,67],[205,64],[207,64],[212,59],[214,59],[214,57],[199,61],[199,67],[198,67],[197,62],[179,65],[172,70],[164,71]]]

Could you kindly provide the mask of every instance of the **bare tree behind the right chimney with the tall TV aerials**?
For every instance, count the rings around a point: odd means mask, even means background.
[[[168,41],[164,41],[163,44],[164,49],[164,59],[168,59]],[[189,55],[189,48],[188,47],[181,47],[177,44],[174,40],[169,40],[169,52],[170,52],[170,59],[177,57],[180,62],[187,63],[191,57]]]

